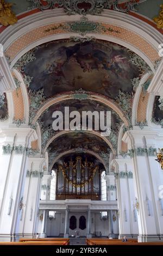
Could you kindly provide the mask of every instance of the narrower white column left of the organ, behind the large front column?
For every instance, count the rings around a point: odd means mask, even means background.
[[[44,159],[40,157],[28,158],[28,169],[26,170],[26,184],[24,189],[24,202],[20,235],[34,237],[37,233],[39,222],[39,202],[41,193],[41,181],[43,176]]]

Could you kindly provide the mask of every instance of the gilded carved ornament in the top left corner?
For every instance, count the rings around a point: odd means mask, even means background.
[[[3,26],[14,25],[17,22],[16,15],[11,10],[12,4],[0,0],[0,24]]]

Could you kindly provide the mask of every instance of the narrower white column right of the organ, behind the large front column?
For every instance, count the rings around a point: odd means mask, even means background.
[[[117,199],[119,209],[119,239],[123,236],[137,238],[138,223],[135,221],[135,192],[130,159],[115,159],[117,164]]]

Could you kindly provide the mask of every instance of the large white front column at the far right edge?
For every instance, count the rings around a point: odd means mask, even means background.
[[[162,173],[155,157],[148,154],[149,148],[158,148],[163,143],[163,133],[152,131],[148,127],[131,130],[123,136],[128,148],[134,150],[134,185],[137,200],[137,220],[140,242],[156,241],[162,237],[162,216],[159,205],[159,187],[162,185]],[[136,202],[135,202],[136,203]]]

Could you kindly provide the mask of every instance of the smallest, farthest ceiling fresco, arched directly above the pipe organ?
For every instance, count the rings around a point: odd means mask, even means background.
[[[56,138],[48,148],[49,153],[57,151],[58,154],[71,149],[92,150],[99,154],[102,151],[107,153],[109,145],[102,138],[91,133],[71,132]]]

